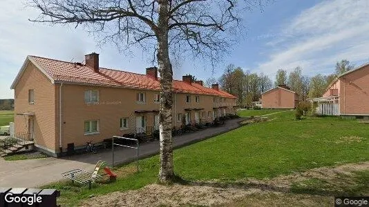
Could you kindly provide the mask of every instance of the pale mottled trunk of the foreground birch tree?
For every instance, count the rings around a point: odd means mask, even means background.
[[[171,137],[172,122],[172,80],[173,72],[169,60],[168,44],[168,1],[160,0],[159,19],[158,19],[158,65],[160,72],[160,171],[159,181],[167,184],[172,181],[173,170],[173,148]]]

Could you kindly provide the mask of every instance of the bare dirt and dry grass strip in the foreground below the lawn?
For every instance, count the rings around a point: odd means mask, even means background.
[[[283,206],[288,199],[291,206],[327,206],[332,204],[331,198],[288,193],[291,185],[311,178],[337,181],[339,175],[352,175],[358,170],[369,170],[369,161],[335,168],[314,168],[273,179],[244,179],[232,184],[217,181],[198,181],[188,186],[151,184],[139,190],[93,197],[82,206]],[[276,197],[279,203],[271,202],[271,197]],[[245,201],[249,205],[243,205]],[[296,205],[297,201],[301,205]]]

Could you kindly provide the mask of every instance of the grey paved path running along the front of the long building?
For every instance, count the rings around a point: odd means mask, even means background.
[[[173,137],[173,147],[179,148],[193,144],[197,141],[214,137],[221,133],[238,128],[239,121],[243,119],[232,119],[226,121],[224,126],[207,128],[198,132],[191,132],[182,136]],[[159,141],[152,141],[140,146],[140,158],[158,154]],[[95,155],[75,155],[71,157],[44,159],[29,159],[19,161],[5,161],[0,158],[0,187],[10,188],[32,188],[43,186],[51,182],[63,179],[61,172],[81,168],[93,170],[97,161],[103,160],[111,164],[111,149],[99,150]],[[135,160],[135,149],[115,148],[115,164],[128,163]]]

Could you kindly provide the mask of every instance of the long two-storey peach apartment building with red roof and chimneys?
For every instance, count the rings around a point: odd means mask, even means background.
[[[158,68],[146,74],[101,68],[99,55],[85,63],[28,56],[11,88],[15,90],[15,133],[33,140],[35,148],[58,157],[114,135],[158,130]],[[218,88],[173,80],[173,128],[206,123],[234,113],[236,97]]]

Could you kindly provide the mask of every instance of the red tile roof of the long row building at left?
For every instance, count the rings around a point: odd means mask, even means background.
[[[159,81],[146,75],[108,68],[100,68],[100,72],[97,73],[92,68],[83,64],[58,61],[44,57],[30,57],[56,82],[160,90]],[[214,90],[201,86],[198,83],[189,84],[178,80],[173,80],[173,91],[236,98],[223,90]]]

